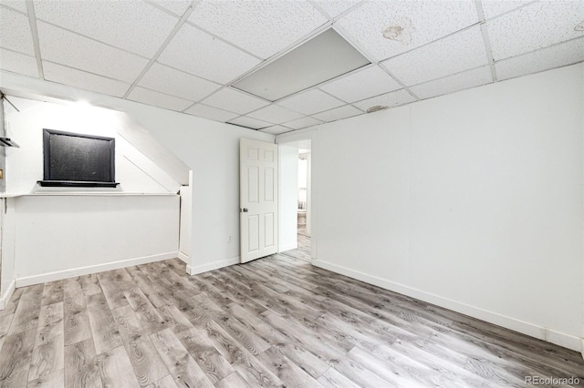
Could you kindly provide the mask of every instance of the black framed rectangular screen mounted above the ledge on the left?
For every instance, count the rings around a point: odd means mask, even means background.
[[[43,129],[41,186],[115,188],[115,138]]]

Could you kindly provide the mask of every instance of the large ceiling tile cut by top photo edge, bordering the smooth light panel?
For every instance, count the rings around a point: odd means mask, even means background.
[[[327,22],[305,1],[205,1],[189,21],[206,31],[267,58]]]

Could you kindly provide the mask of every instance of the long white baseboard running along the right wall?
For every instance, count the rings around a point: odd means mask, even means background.
[[[386,290],[398,292],[421,301],[427,301],[445,309],[474,317],[481,321],[494,323],[498,326],[527,334],[539,340],[555,343],[573,351],[582,352],[584,356],[584,340],[576,335],[568,334],[566,332],[558,332],[535,323],[525,322],[513,317],[499,314],[498,312],[484,310],[470,304],[461,303],[460,301],[453,301],[430,292],[414,289],[412,287],[393,281],[387,281],[367,273],[351,270],[349,268],[330,263],[328,261],[312,260],[312,265],[324,268],[328,271],[333,271],[345,276],[349,276],[349,278],[365,281],[366,283],[373,284]]]

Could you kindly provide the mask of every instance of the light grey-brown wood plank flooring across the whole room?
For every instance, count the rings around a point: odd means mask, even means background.
[[[0,386],[584,386],[578,352],[302,255],[197,276],[166,260],[17,289],[0,311]]]

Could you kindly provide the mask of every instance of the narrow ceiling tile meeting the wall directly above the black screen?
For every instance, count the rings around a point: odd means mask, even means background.
[[[96,76],[95,74],[47,61],[43,61],[43,73],[48,81],[115,97],[122,97],[130,87],[130,84],[116,79]]]

